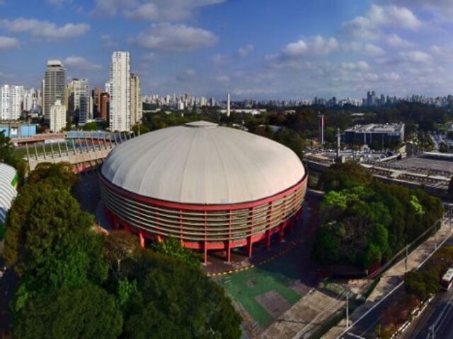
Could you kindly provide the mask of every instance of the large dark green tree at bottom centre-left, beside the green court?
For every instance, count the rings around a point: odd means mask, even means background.
[[[124,338],[240,338],[241,317],[198,268],[146,251]],[[196,307],[194,307],[196,305]]]

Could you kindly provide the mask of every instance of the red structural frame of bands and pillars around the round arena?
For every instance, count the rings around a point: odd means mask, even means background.
[[[241,246],[247,246],[247,254],[248,256],[252,256],[253,252],[253,244],[256,242],[264,241],[265,246],[268,248],[270,246],[270,237],[278,233],[280,240],[283,239],[285,230],[289,228],[289,230],[292,230],[294,227],[294,224],[297,223],[297,220],[301,218],[302,215],[302,207],[297,210],[296,213],[293,213],[290,218],[286,218],[282,220],[280,225],[277,225],[277,227],[270,227],[270,222],[269,222],[269,227],[266,227],[265,232],[261,234],[256,234],[253,236],[248,236],[245,237],[244,239],[236,239],[233,240],[231,239],[231,211],[233,210],[243,210],[243,209],[250,209],[251,210],[251,230],[253,230],[253,208],[256,208],[258,206],[263,206],[265,204],[270,205],[270,213],[268,218],[271,218],[272,215],[272,208],[273,208],[273,202],[277,201],[281,198],[285,198],[286,196],[289,196],[290,194],[294,193],[294,191],[297,191],[298,189],[304,189],[306,190],[306,182],[308,175],[307,173],[304,174],[304,177],[295,184],[292,187],[289,187],[289,189],[282,191],[278,194],[275,194],[273,196],[269,196],[267,198],[263,198],[257,201],[250,201],[246,203],[234,203],[234,204],[228,204],[228,205],[202,205],[202,204],[188,204],[188,203],[176,203],[176,202],[171,202],[171,201],[163,201],[159,200],[156,198],[149,198],[147,196],[141,196],[139,194],[134,194],[130,191],[127,191],[125,189],[120,188],[119,186],[116,186],[115,184],[112,184],[108,179],[105,179],[103,177],[102,171],[99,171],[99,177],[101,180],[101,186],[105,186],[109,191],[115,192],[115,194],[124,197],[124,198],[129,198],[132,201],[137,201],[139,203],[143,203],[147,206],[156,206],[156,207],[162,207],[162,208],[171,208],[173,210],[179,210],[180,211],[180,241],[181,244],[187,248],[190,249],[197,249],[197,250],[202,250],[204,253],[204,261],[207,263],[207,251],[208,250],[223,250],[226,252],[226,261],[229,262],[231,260],[231,249],[234,249],[236,247],[241,247]],[[304,194],[302,196],[302,201],[304,198]],[[104,203],[105,206],[105,213],[108,217],[108,220],[113,224],[113,227],[115,229],[124,227],[125,230],[128,232],[132,232],[134,234],[138,234],[139,236],[139,243],[140,246],[144,247],[146,243],[146,239],[152,239],[154,241],[161,242],[163,237],[159,232],[150,232],[150,230],[145,230],[144,227],[139,227],[136,225],[132,225],[130,222],[125,220],[124,218],[121,218],[118,213],[115,213],[115,210],[111,210],[108,207],[107,203]],[[183,211],[197,211],[200,213],[205,213],[205,239],[204,241],[200,242],[184,242],[183,241],[183,218],[182,218],[182,213]],[[207,239],[207,212],[208,211],[229,211],[230,217],[229,217],[229,240],[226,242],[209,242]]]

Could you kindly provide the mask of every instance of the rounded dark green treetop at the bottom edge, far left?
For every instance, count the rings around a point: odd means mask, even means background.
[[[110,339],[121,331],[115,298],[93,285],[40,295],[28,302],[13,324],[17,339]]]

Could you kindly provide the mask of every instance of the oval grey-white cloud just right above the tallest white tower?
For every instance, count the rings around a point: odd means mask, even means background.
[[[146,49],[183,52],[210,47],[217,42],[217,37],[202,28],[158,23],[131,38],[130,42]]]

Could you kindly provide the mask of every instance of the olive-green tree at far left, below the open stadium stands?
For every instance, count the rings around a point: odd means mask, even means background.
[[[26,185],[6,218],[5,258],[21,273],[39,267],[64,239],[91,230],[93,216],[69,191],[45,183]]]

